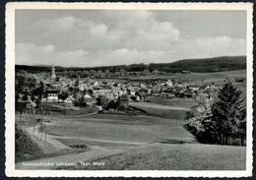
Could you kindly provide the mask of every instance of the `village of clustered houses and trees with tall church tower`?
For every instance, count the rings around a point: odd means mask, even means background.
[[[155,75],[159,72],[152,73]],[[191,72],[183,71],[181,73],[190,74]],[[27,88],[17,94],[16,105],[17,109],[22,107],[25,110],[40,107],[49,111],[65,111],[65,109],[81,110],[84,107],[82,110],[85,110],[85,107],[93,107],[94,111],[99,112],[129,113],[131,112],[129,102],[151,102],[152,98],[211,100],[220,86],[215,83],[206,84],[200,81],[179,79],[155,79],[150,82],[132,82],[125,79],[111,81],[110,78],[96,79],[94,76],[70,79],[57,76],[54,65],[52,65],[46,78],[39,83],[37,81],[33,91]]]

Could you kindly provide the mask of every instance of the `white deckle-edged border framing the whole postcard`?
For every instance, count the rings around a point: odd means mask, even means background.
[[[246,10],[247,11],[247,150],[246,170],[16,170],[15,169],[15,10],[97,9],[97,10]],[[15,2],[6,5],[6,175],[10,177],[249,177],[252,176],[252,3],[47,3]]]

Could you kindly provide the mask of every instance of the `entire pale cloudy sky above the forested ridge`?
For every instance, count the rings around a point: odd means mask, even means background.
[[[246,54],[246,11],[16,10],[20,65],[95,67]]]

